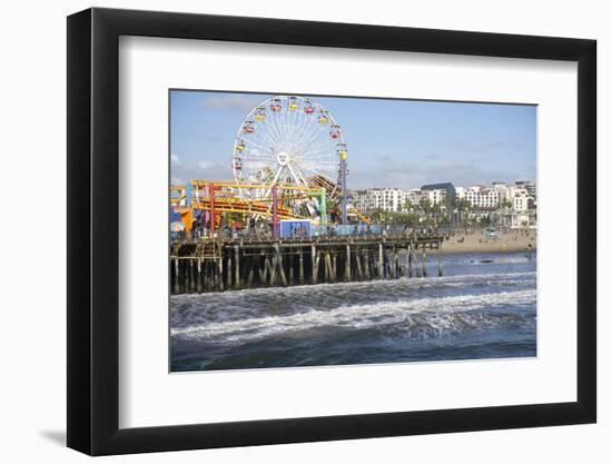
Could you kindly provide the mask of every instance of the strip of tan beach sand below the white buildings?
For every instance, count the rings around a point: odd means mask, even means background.
[[[444,254],[456,253],[516,253],[536,249],[535,230],[499,233],[497,238],[487,238],[484,233],[455,234],[442,244]]]

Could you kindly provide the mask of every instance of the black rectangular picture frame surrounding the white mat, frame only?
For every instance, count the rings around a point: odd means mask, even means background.
[[[119,428],[120,36],[578,62],[578,401]],[[594,40],[89,9],[68,18],[68,446],[91,455],[593,423],[596,418]]]

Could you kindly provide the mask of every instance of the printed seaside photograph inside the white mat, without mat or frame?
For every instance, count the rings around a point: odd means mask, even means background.
[[[537,356],[537,106],[168,98],[171,373]]]

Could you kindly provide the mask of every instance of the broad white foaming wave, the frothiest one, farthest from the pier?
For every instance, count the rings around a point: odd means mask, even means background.
[[[506,275],[507,276],[507,275]],[[487,278],[492,276],[488,275]],[[381,283],[377,283],[379,285]],[[346,285],[346,284],[343,284]],[[295,290],[293,287],[292,290]],[[269,289],[268,289],[269,290]],[[309,287],[312,292],[312,287]],[[323,310],[221,320],[172,327],[172,337],[236,344],[270,336],[334,327],[384,329],[406,336],[440,337],[501,326],[533,327],[535,288],[478,295],[454,295],[356,304]],[[516,309],[516,308],[527,308]]]

